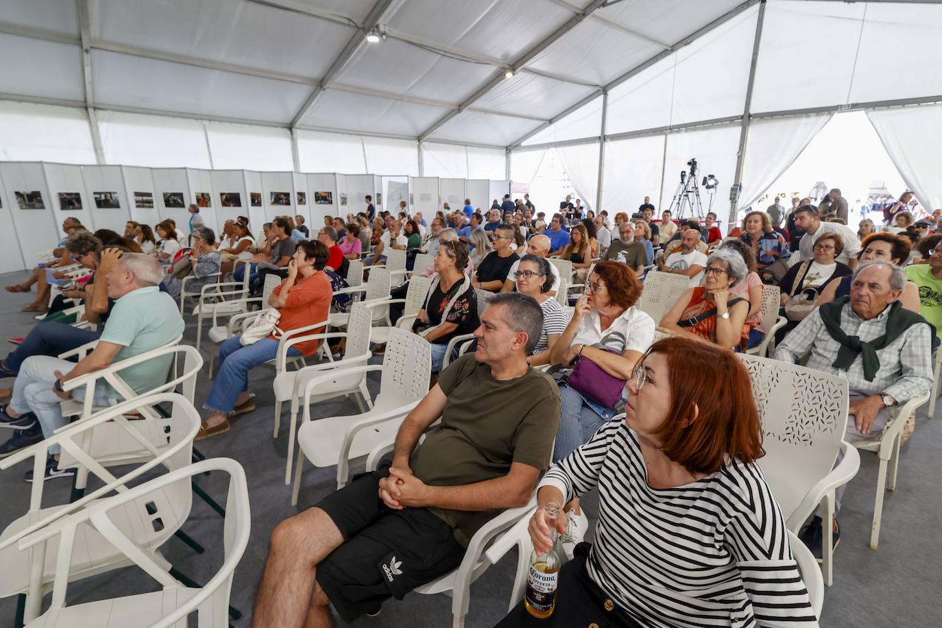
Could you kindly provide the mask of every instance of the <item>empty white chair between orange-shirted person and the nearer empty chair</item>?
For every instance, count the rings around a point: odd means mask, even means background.
[[[274,438],[278,437],[278,429],[281,425],[282,404],[285,401],[291,402],[291,424],[288,428],[288,456],[284,470],[284,484],[291,482],[291,464],[294,459],[298,411],[300,410],[303,391],[312,378],[319,378],[321,381],[317,386],[317,391],[313,391],[304,400],[305,404],[317,403],[337,396],[351,395],[360,406],[360,411],[365,412],[373,407],[369,391],[366,389],[365,371],[348,372],[350,367],[365,366],[372,355],[369,351],[370,311],[368,305],[365,303],[353,304],[346,332],[318,333],[314,336],[308,336],[306,339],[313,340],[315,338],[321,339],[322,342],[326,342],[328,339],[346,338],[347,344],[343,358],[334,362],[332,357],[327,362],[310,364],[298,371],[286,371],[281,365],[284,364],[288,347],[294,342],[288,341],[284,346],[279,346],[278,375],[275,376],[273,384],[275,392]],[[327,351],[327,353],[330,355],[330,351]],[[335,374],[335,377],[324,377],[331,374]]]

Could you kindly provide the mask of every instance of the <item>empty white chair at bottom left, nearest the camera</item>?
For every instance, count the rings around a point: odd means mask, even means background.
[[[189,488],[190,478],[209,471],[223,471],[229,475],[226,517],[223,528],[223,558],[219,571],[202,588],[189,588],[173,578],[166,561],[157,547],[167,539],[166,534],[177,523],[179,506],[172,496],[181,487]],[[188,514],[186,508],[184,520]],[[154,527],[156,520],[163,530],[153,539],[140,539]],[[170,525],[168,524],[170,523]],[[182,523],[182,521],[180,522]],[[79,512],[20,541],[24,550],[49,545],[55,556],[55,584],[52,604],[29,628],[58,626],[81,628],[84,626],[122,626],[127,628],[170,628],[187,625],[187,616],[198,613],[198,622],[205,628],[226,628],[229,625],[229,596],[233,573],[245,548],[249,544],[249,491],[245,472],[233,459],[203,460],[157,477],[130,491],[103,499]],[[81,560],[73,548],[81,546],[88,537],[109,547],[121,556],[124,564],[137,565],[157,583],[161,590],[130,595],[122,598],[65,605],[68,580]],[[159,539],[160,542],[156,542]],[[77,554],[77,556],[76,556]]]

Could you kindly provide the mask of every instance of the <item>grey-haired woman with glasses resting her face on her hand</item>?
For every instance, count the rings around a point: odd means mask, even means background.
[[[748,273],[749,268],[737,251],[714,250],[707,258],[704,284],[688,288],[677,299],[660,319],[660,329],[727,349],[739,345],[742,323],[749,315],[749,299],[733,294],[730,289]]]

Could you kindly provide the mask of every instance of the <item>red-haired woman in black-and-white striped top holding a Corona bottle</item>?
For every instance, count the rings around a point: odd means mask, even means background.
[[[528,531],[541,554],[550,528],[566,529],[560,504],[595,487],[601,496],[595,542],[562,566],[555,612],[540,625],[817,626],[785,519],[755,466],[761,427],[742,362],[665,338],[628,392],[624,417],[537,489]],[[527,616],[520,604],[498,628],[530,625]]]

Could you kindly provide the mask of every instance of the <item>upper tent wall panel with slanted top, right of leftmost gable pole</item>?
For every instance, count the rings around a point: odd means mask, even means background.
[[[661,59],[609,91],[606,132],[654,129],[671,123],[674,56]]]

